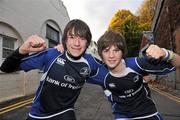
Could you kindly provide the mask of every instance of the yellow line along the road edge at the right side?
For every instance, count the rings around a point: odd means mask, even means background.
[[[179,98],[179,97],[176,97],[176,96],[174,96],[174,95],[172,95],[172,94],[169,94],[169,93],[167,93],[167,92],[164,92],[164,91],[162,91],[162,90],[159,90],[159,89],[157,89],[157,88],[155,88],[155,87],[153,87],[153,86],[151,86],[151,89],[154,90],[154,91],[156,91],[156,92],[158,92],[158,93],[160,93],[160,94],[163,95],[163,96],[168,97],[168,98],[171,99],[171,100],[174,100],[174,101],[180,103],[180,98]]]

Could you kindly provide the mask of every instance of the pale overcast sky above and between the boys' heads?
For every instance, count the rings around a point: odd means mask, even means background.
[[[143,0],[62,0],[70,19],[81,19],[92,32],[92,40],[107,30],[113,15],[119,9],[128,9],[135,14]]]

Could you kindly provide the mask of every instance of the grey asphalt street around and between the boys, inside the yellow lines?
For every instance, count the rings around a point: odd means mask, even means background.
[[[180,102],[152,90],[152,97],[164,120],[180,120]],[[30,104],[10,112],[0,111],[0,120],[25,120]],[[2,109],[2,108],[1,108]],[[113,120],[110,104],[99,86],[86,84],[76,103],[77,120]]]

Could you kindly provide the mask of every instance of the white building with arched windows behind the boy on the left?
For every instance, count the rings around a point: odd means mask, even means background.
[[[61,0],[0,0],[0,64],[30,35],[41,36],[48,47],[60,43],[69,20]],[[0,102],[33,93],[40,76],[0,71]]]

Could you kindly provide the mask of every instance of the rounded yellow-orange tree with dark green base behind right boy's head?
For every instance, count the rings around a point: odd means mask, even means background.
[[[128,47],[128,56],[138,55],[142,32],[136,16],[129,10],[118,10],[110,21],[108,29],[124,35]]]

